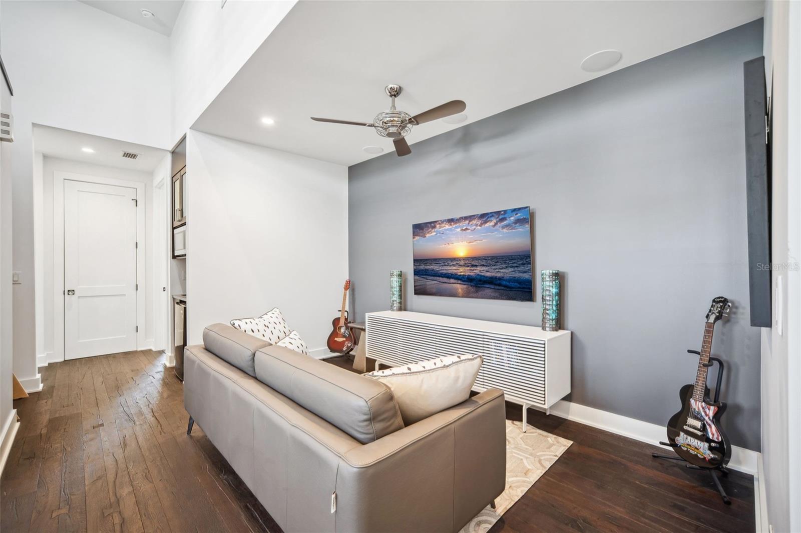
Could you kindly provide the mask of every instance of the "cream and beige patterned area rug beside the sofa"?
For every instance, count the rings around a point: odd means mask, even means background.
[[[512,507],[525,491],[573,444],[531,424],[523,433],[522,423],[506,421],[506,489],[495,499],[495,508],[485,507],[460,533],[485,533]]]

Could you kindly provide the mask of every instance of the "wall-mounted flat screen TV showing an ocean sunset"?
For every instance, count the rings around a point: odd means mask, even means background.
[[[414,294],[533,301],[529,208],[412,226]]]

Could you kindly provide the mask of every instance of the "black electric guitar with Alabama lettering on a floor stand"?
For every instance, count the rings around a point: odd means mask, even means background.
[[[726,403],[712,403],[709,399],[709,387],[706,387],[706,371],[711,366],[709,359],[714,324],[728,316],[729,309],[731,303],[723,296],[712,300],[706,314],[695,383],[687,384],[679,391],[682,410],[667,423],[667,440],[670,446],[687,463],[702,468],[725,467],[731,457],[729,439],[720,428],[720,416],[726,411]]]

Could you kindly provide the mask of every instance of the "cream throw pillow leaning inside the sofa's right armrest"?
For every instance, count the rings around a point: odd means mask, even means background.
[[[449,355],[365,375],[392,389],[408,426],[468,399],[482,361],[481,355]]]

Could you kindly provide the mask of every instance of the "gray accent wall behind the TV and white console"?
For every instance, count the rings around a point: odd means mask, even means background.
[[[354,318],[388,309],[389,271],[402,269],[406,310],[539,325],[539,273],[559,269],[562,327],[573,331],[566,399],[663,425],[694,381],[686,350],[700,348],[723,295],[734,303],[713,346],[727,363],[723,429],[759,451],[743,62],[762,44],[760,19],[414,143],[408,157],[351,166]],[[412,224],[525,205],[534,303],[413,295]]]

